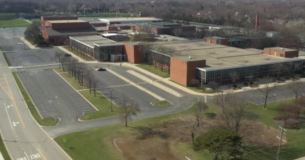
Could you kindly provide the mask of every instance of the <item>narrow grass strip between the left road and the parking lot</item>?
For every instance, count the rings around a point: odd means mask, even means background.
[[[16,72],[12,72],[13,76],[17,82],[17,85],[19,87],[19,89],[21,90],[22,96],[25,99],[29,110],[31,111],[32,116],[36,119],[36,121],[43,126],[54,126],[57,124],[58,119],[54,119],[54,118],[50,118],[50,119],[42,119],[41,116],[38,113],[38,110],[36,109],[36,107],[34,106],[29,94],[26,92],[26,89],[24,88],[22,82],[20,81],[18,75]]]

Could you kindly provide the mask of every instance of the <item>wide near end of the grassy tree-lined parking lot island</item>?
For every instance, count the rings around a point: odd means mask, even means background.
[[[120,113],[119,108],[114,103],[112,103],[113,112],[110,111],[110,100],[108,100],[100,92],[97,91],[96,96],[94,96],[93,90],[91,93],[89,92],[89,90],[83,90],[79,92],[99,110],[84,114],[81,117],[82,120],[113,116],[113,115],[118,115]]]

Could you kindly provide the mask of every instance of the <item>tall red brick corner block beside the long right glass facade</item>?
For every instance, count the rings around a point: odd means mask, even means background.
[[[206,60],[183,61],[171,57],[171,80],[182,85],[192,85],[192,79],[196,78],[196,67],[206,65]]]

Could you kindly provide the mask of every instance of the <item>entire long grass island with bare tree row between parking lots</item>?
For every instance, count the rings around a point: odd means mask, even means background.
[[[55,71],[63,71],[62,68],[56,68]],[[87,87],[87,84],[84,82],[84,85],[80,85],[78,80],[71,76],[68,72],[60,73],[60,75],[66,79],[76,90],[79,91],[80,94],[82,94],[88,101],[90,101],[97,109],[98,111],[94,112],[88,112],[85,113],[81,120],[90,120],[90,119],[96,119],[101,117],[107,117],[107,116],[113,116],[119,114],[119,108],[117,105],[112,103],[112,112],[110,111],[110,100],[107,99],[103,94],[101,94],[99,91],[96,91],[96,96],[94,96],[93,90],[91,90],[91,93]],[[82,90],[87,89],[87,90]]]

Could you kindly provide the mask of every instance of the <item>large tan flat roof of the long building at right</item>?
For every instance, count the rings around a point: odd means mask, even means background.
[[[141,43],[135,43],[141,44]],[[202,41],[202,39],[194,40],[177,40],[150,42],[150,45],[172,47],[176,51],[173,57],[184,61],[194,61],[206,59],[206,66],[200,67],[206,71],[227,69],[234,67],[243,67],[251,65],[261,65],[269,63],[278,63],[285,61],[303,60],[301,58],[285,58],[280,56],[264,54],[260,49],[248,48],[241,49],[237,47],[212,44]],[[279,47],[280,48],[280,47]],[[288,50],[288,48],[287,48]],[[293,50],[293,49],[291,49]],[[164,51],[166,54],[166,51]],[[191,59],[189,58],[191,56]]]

